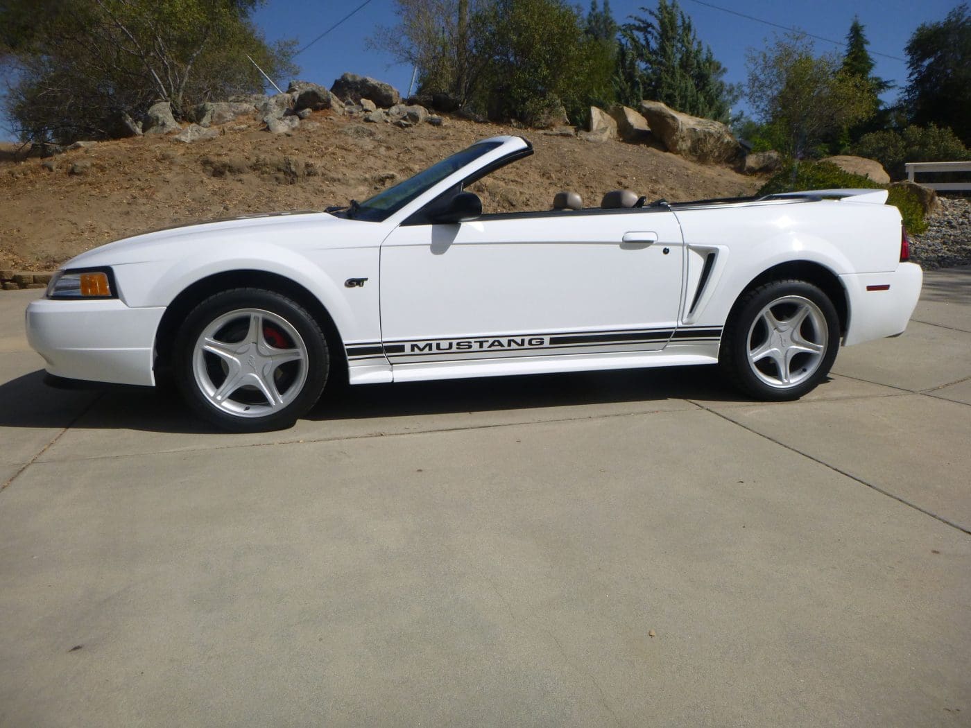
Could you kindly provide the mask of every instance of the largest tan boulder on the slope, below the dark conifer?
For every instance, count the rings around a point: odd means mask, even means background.
[[[731,162],[741,146],[728,127],[709,118],[676,112],[659,101],[642,101],[641,114],[668,151],[704,164]]]

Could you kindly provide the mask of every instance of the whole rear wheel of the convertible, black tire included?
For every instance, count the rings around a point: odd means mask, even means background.
[[[839,346],[839,315],[819,287],[770,281],[746,291],[734,307],[719,364],[727,379],[754,399],[786,402],[825,379]]]

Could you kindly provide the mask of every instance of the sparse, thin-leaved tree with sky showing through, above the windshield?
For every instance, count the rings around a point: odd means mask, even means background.
[[[457,106],[475,96],[486,59],[477,50],[489,0],[395,0],[398,22],[369,40],[418,69],[422,93],[445,93]]]

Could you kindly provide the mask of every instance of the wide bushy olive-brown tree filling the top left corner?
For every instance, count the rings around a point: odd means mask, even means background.
[[[0,48],[17,82],[7,111],[19,135],[67,142],[111,135],[121,113],[154,101],[177,116],[195,104],[258,91],[251,55],[290,70],[292,46],[270,49],[250,21],[258,0],[33,0],[0,5]]]

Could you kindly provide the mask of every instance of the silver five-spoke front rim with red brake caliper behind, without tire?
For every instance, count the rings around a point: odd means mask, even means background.
[[[192,373],[218,409],[261,417],[285,408],[307,380],[307,347],[283,317],[240,309],[212,321],[195,343]]]

